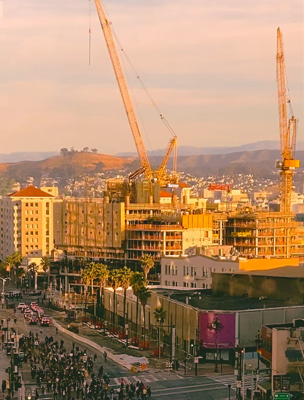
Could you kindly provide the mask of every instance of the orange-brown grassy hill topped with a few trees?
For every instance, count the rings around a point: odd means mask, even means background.
[[[88,172],[102,172],[106,170],[121,170],[124,168],[138,168],[134,157],[116,157],[107,154],[74,153],[68,156],[54,156],[41,161],[21,161],[15,163],[1,163],[0,174],[23,181],[33,176],[35,183],[40,183],[42,174],[63,179],[81,176]]]

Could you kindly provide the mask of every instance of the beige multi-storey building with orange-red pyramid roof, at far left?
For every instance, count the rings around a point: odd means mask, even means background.
[[[35,186],[1,199],[1,258],[15,251],[24,258],[51,254],[54,200],[53,194]]]

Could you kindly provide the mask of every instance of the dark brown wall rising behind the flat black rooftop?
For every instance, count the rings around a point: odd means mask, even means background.
[[[226,293],[229,296],[267,297],[271,300],[290,300],[303,304],[304,278],[285,278],[249,274],[214,274],[213,294]]]

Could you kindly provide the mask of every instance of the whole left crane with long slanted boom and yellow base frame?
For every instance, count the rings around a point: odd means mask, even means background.
[[[112,30],[110,27],[110,22],[108,21],[108,19],[106,18],[106,14],[104,12],[104,8],[102,6],[102,2],[101,0],[94,0],[95,1],[95,5],[96,5],[96,9],[97,9],[97,13],[98,13],[98,17],[100,20],[100,24],[102,27],[102,32],[104,34],[104,39],[106,41],[106,46],[108,48],[108,52],[110,55],[110,59],[112,62],[112,66],[113,66],[113,70],[114,70],[114,74],[118,83],[118,88],[120,91],[120,95],[122,98],[122,102],[124,104],[124,109],[126,111],[126,115],[128,118],[128,122],[130,125],[130,129],[132,132],[132,136],[135,142],[135,146],[136,146],[136,150],[140,159],[140,168],[138,168],[138,170],[134,171],[130,176],[129,179],[135,179],[137,176],[139,176],[140,174],[144,173],[146,175],[146,178],[148,178],[148,180],[150,182],[160,182],[161,185],[166,184],[166,182],[170,182],[170,181],[174,181],[176,182],[176,143],[177,143],[177,138],[176,136],[173,137],[172,140],[170,140],[167,150],[166,150],[166,154],[164,156],[164,159],[162,160],[162,163],[160,164],[160,167],[158,168],[158,170],[156,171],[152,171],[152,168],[150,166],[150,162],[148,160],[148,155],[146,152],[146,148],[144,146],[144,142],[142,140],[142,135],[140,134],[140,129],[138,126],[138,122],[136,119],[136,114],[134,112],[134,108],[132,105],[132,101],[130,98],[130,94],[128,91],[128,87],[126,84],[126,80],[124,78],[124,74],[122,72],[122,67],[120,65],[120,61],[118,58],[118,54],[117,54],[117,50],[116,50],[116,46],[114,43],[114,39],[113,39],[113,35],[112,35]],[[160,115],[161,118],[163,118],[162,114]],[[168,162],[168,159],[170,157],[170,154],[172,152],[172,150],[174,151],[175,154],[175,158],[174,158],[174,172],[173,172],[173,177],[171,178],[165,171],[166,169],[166,164]]]

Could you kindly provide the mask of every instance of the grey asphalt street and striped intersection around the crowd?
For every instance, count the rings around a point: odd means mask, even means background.
[[[30,304],[32,300],[36,299],[33,299],[29,296],[24,296],[22,301],[26,304]],[[15,304],[18,304],[18,301],[15,301]],[[52,316],[52,312],[47,308],[45,309],[45,313],[46,316]],[[105,372],[110,377],[110,388],[118,388],[120,386],[120,380],[123,378],[125,384],[136,384],[137,381],[142,381],[145,386],[149,385],[152,390],[152,398],[156,400],[172,398],[173,396],[176,400],[198,400],[202,398],[207,400],[215,400],[228,398],[228,384],[230,383],[232,385],[231,399],[235,396],[235,377],[233,375],[214,374],[214,376],[209,377],[184,376],[184,371],[182,368],[179,370],[179,374],[171,371],[161,371],[156,373],[155,368],[152,366],[150,368],[148,366],[148,370],[146,372],[134,374],[126,368],[114,363],[110,359],[108,359],[107,362],[104,362],[104,358],[100,352],[90,346],[84,346],[83,343],[77,342],[71,336],[60,331],[58,334],[56,334],[56,328],[52,324],[49,327],[43,327],[43,332],[41,334],[40,324],[30,326],[28,320],[24,319],[24,316],[20,310],[16,310],[15,315],[14,310],[12,309],[6,310],[4,308],[3,310],[0,310],[1,318],[6,318],[7,314],[11,316],[10,324],[12,324],[12,326],[14,326],[14,328],[18,331],[18,335],[24,333],[28,336],[30,330],[34,333],[34,335],[37,332],[40,340],[44,340],[46,335],[48,337],[52,335],[54,340],[57,340],[58,342],[60,342],[60,340],[64,340],[64,347],[67,350],[70,350],[72,348],[72,342],[75,342],[76,346],[78,345],[80,349],[86,347],[88,355],[92,354],[92,356],[94,356],[94,354],[96,354],[97,362],[94,363],[94,373],[98,372],[98,368],[102,364]],[[14,317],[17,319],[16,325],[13,322]],[[111,351],[110,348],[109,351]],[[32,380],[30,376],[30,366],[28,364],[23,364],[22,377],[24,380],[25,393],[28,393],[29,390],[34,392],[36,388],[36,381]],[[89,378],[87,378],[87,380],[90,381]],[[251,387],[249,381],[246,382],[246,387]],[[74,395],[76,398],[75,394],[72,395]],[[44,396],[40,396],[40,398],[52,399],[53,394],[52,392],[46,393]]]

